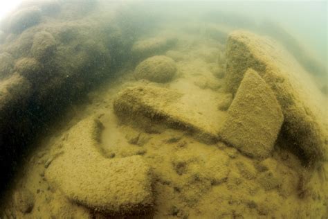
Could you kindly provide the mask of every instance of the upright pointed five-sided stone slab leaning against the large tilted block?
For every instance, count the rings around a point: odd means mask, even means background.
[[[219,135],[251,157],[268,157],[284,116],[275,94],[253,69],[245,73]]]

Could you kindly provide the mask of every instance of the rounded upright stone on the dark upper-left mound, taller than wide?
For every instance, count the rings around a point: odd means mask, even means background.
[[[30,52],[37,60],[47,60],[53,55],[55,49],[56,42],[53,35],[46,31],[41,31],[35,34]]]

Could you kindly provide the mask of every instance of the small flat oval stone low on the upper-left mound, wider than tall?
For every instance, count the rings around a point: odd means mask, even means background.
[[[15,70],[28,79],[38,76],[41,71],[41,64],[35,58],[22,58],[15,64]]]

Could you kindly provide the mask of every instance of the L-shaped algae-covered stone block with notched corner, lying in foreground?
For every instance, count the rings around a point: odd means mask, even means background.
[[[100,153],[102,125],[92,118],[71,128],[64,153],[46,170],[46,178],[69,200],[104,213],[143,213],[152,207],[152,178],[140,156],[107,159]]]

